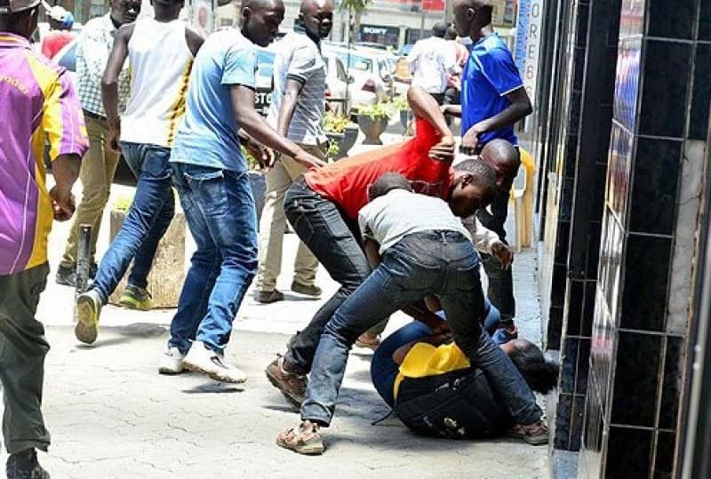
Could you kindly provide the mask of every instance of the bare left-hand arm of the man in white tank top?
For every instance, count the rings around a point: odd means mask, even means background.
[[[118,75],[124,68],[128,56],[128,42],[133,35],[131,23],[118,29],[114,39],[114,47],[108,55],[108,63],[101,78],[101,100],[104,102],[104,112],[108,121],[108,148],[121,151],[118,140],[121,137],[121,120],[118,117]]]

